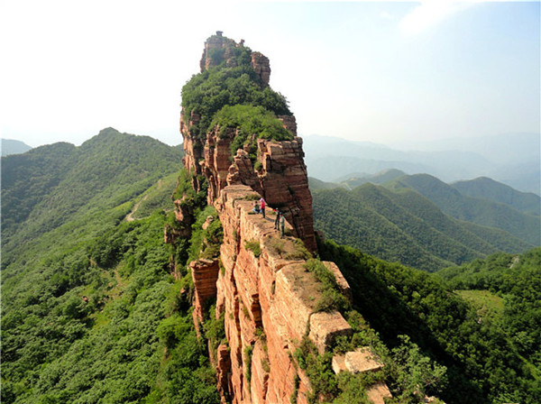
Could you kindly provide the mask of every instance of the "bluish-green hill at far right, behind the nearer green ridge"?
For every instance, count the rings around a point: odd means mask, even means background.
[[[496,227],[533,244],[541,244],[541,220],[504,204],[464,197],[458,190],[427,174],[404,176],[386,184],[391,189],[412,188],[430,199],[446,215],[477,225]]]

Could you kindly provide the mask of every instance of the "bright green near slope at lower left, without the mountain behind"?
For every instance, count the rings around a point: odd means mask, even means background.
[[[3,402],[219,402],[188,305],[175,305],[164,220],[124,222],[4,285]]]

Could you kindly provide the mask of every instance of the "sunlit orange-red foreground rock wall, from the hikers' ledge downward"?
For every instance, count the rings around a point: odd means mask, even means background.
[[[250,187],[232,185],[215,199],[224,226],[225,267],[216,283],[216,316],[225,312],[230,364],[229,369],[218,367],[218,379],[233,403],[281,403],[289,402],[298,375],[297,402],[306,403],[309,381],[291,355],[308,329],[321,352],[337,335],[352,330],[338,312],[315,313],[316,280],[304,269],[305,261],[295,258],[293,237],[280,238],[274,230],[274,216],[251,214],[249,198],[255,195]],[[259,243],[261,254],[255,256],[246,242]],[[251,360],[246,347],[252,347]]]

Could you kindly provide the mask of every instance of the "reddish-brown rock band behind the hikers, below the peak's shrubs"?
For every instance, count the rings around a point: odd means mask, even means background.
[[[297,132],[294,116],[281,119],[286,128]],[[300,137],[283,142],[258,139],[257,161],[252,163],[248,152],[243,149],[236,152],[232,161],[231,142],[237,135],[234,129],[228,128],[220,133],[219,128],[215,128],[207,133],[202,150],[189,133],[189,125],[182,120],[180,131],[184,136],[185,165],[206,177],[209,204],[214,203],[220,190],[226,186],[247,185],[261,195],[269,207],[280,208],[308,250],[316,250],[312,195]],[[256,166],[259,166],[258,170]]]

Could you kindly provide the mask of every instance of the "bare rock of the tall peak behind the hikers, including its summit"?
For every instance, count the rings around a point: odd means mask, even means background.
[[[222,32],[216,32],[205,42],[202,71],[224,61],[225,66],[234,66],[235,55],[238,54],[235,50],[243,46],[243,41],[237,44],[225,38]],[[252,51],[251,58],[256,75],[267,85],[271,75],[269,59],[260,52]],[[297,134],[294,115],[280,115],[278,118],[284,128],[293,135]],[[202,140],[192,130],[200,121],[201,116],[197,113],[192,111],[189,119],[186,119],[183,111],[180,133],[184,137],[186,167],[208,181],[208,203],[214,204],[220,190],[228,185],[247,185],[265,198],[269,207],[283,211],[293,225],[295,234],[306,243],[308,250],[316,251],[312,196],[308,189],[302,139],[296,136],[291,141],[282,142],[258,139],[254,155],[250,156],[243,149],[232,155],[232,143],[240,135],[240,130],[215,127]],[[253,133],[252,137],[255,139],[257,135]],[[200,185],[196,184],[196,187]]]

